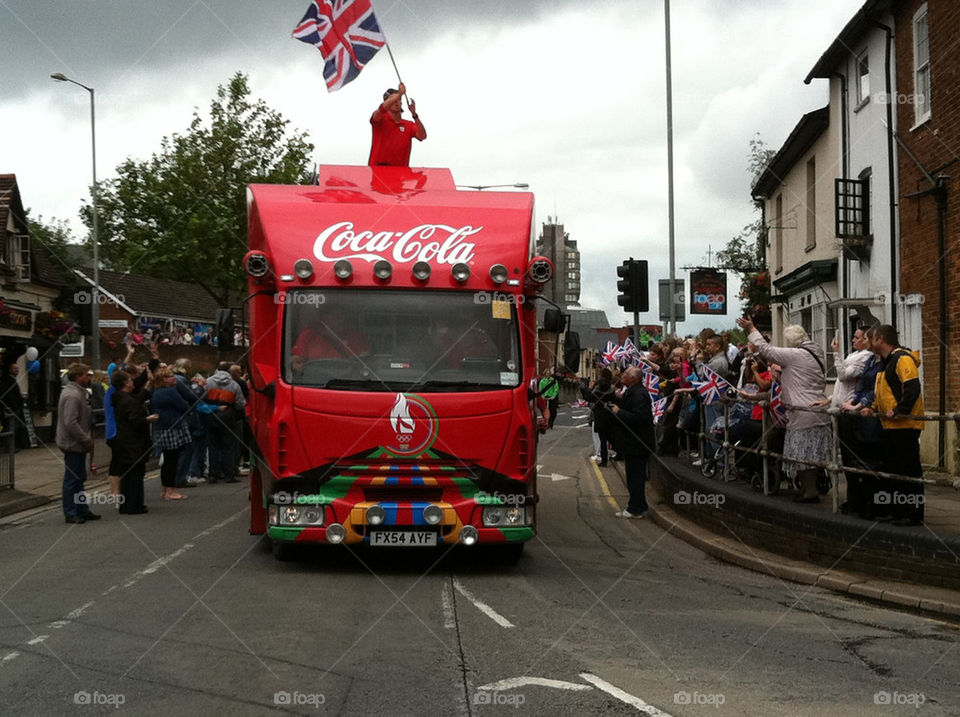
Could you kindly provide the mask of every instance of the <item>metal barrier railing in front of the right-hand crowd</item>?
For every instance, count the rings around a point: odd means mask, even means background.
[[[731,398],[724,397],[720,399],[723,408],[723,442],[722,448],[724,451],[724,462],[723,462],[723,474],[725,480],[730,480],[730,471],[733,469],[733,464],[735,462],[734,454],[736,452],[741,453],[752,453],[754,455],[760,456],[761,466],[762,466],[762,480],[763,480],[763,493],[764,495],[770,495],[770,463],[767,460],[768,458],[776,458],[782,460],[783,458],[789,458],[791,460],[797,460],[796,456],[785,456],[783,453],[773,451],[770,449],[769,441],[771,436],[771,423],[769,415],[769,405],[770,402],[767,400],[760,401],[750,401],[748,399],[743,399],[740,397]],[[730,443],[730,407],[735,403],[744,403],[751,406],[760,405],[763,407],[762,419],[761,419],[761,445],[759,448],[752,446],[740,446],[733,445]],[[839,498],[839,486],[841,485],[840,481],[843,480],[843,485],[846,487],[846,478],[848,473],[870,476],[872,478],[878,478],[881,480],[900,480],[904,482],[911,483],[923,483],[923,484],[936,484],[936,480],[926,477],[917,477],[917,476],[907,476],[899,473],[886,473],[883,471],[869,470],[865,468],[857,468],[856,466],[848,466],[843,462],[842,447],[840,441],[840,430],[839,430],[839,420],[840,416],[855,416],[858,419],[866,420],[868,418],[879,418],[877,415],[872,416],[861,416],[859,412],[856,411],[841,411],[838,408],[819,408],[812,406],[792,406],[789,404],[783,404],[784,408],[787,411],[807,411],[810,413],[821,413],[827,414],[830,416],[830,428],[833,435],[833,460],[829,463],[824,463],[821,461],[807,460],[803,459],[803,463],[806,463],[815,468],[821,468],[827,471],[828,475],[831,477],[834,490],[833,494],[833,511],[835,513],[840,512],[840,498]],[[705,416],[704,416],[704,406],[700,404],[700,430],[696,434],[698,438],[698,444],[700,446],[700,460],[707,460],[707,456],[704,455],[706,450],[712,443],[717,441],[712,437],[709,432],[709,426],[705,425]],[[953,421],[958,436],[958,464],[960,464],[960,413],[950,413],[950,414],[933,414],[933,415],[922,415],[922,416],[895,416],[893,420],[910,420],[910,421],[931,421],[931,422],[949,422]],[[689,445],[689,444],[688,444]]]

